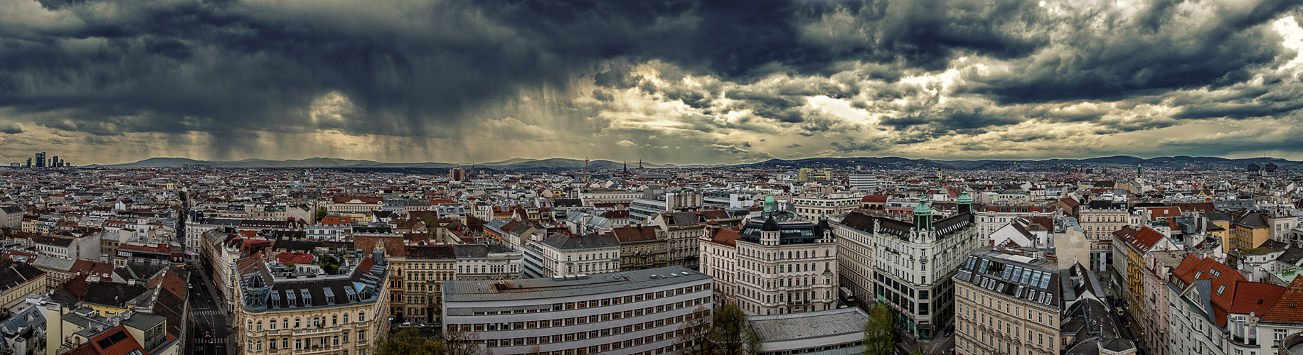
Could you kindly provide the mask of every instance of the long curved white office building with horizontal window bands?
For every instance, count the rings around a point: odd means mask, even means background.
[[[674,354],[683,322],[711,317],[711,293],[683,267],[450,281],[443,332],[476,334],[486,354]]]

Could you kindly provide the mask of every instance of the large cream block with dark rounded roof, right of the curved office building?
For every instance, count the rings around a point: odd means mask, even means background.
[[[826,221],[765,212],[739,234],[734,296],[747,315],[837,308],[837,239]]]

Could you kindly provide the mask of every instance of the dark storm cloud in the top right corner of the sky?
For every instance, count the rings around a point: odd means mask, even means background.
[[[1181,5],[1213,9],[1209,18],[1201,18],[1200,12],[1177,10]],[[1134,17],[1110,8],[1062,22],[1029,23],[1028,30],[1057,42],[1042,53],[1012,61],[1016,70],[969,73],[971,85],[963,90],[999,103],[1035,103],[1235,85],[1263,65],[1293,57],[1269,22],[1299,7],[1293,0],[1151,0],[1135,7],[1141,13]]]

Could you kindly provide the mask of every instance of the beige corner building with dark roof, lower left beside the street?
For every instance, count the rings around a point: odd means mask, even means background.
[[[388,330],[384,281],[390,267],[379,252],[352,272],[294,276],[259,261],[240,280],[236,308],[238,354],[349,354],[371,347]]]

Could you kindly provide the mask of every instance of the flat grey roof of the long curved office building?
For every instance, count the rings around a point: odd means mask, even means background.
[[[573,278],[444,281],[443,300],[477,302],[598,295],[700,280],[710,280],[710,277],[689,270],[684,267],[668,267],[645,270],[598,273]]]

